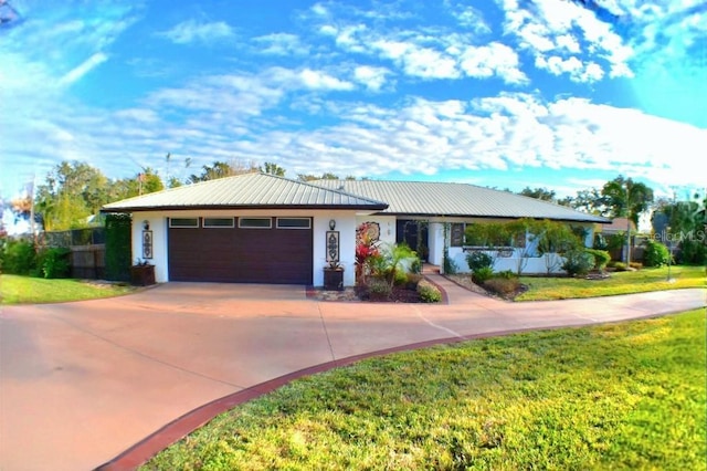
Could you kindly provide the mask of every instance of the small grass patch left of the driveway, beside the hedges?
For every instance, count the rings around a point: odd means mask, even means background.
[[[46,280],[42,278],[0,275],[0,304],[62,303],[110,297],[131,293],[127,285],[97,285],[81,280]]]

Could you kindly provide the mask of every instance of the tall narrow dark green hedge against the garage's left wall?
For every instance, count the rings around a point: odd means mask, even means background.
[[[130,214],[106,217],[106,280],[130,281],[131,226]]]

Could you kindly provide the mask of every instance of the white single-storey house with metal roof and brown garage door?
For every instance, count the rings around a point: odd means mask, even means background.
[[[381,243],[408,242],[441,265],[444,248],[466,269],[464,228],[535,218],[588,229],[608,219],[532,198],[465,184],[377,180],[303,182],[244,174],[113,202],[133,216],[133,260],[155,265],[157,282],[324,284],[331,259],[355,284],[356,229],[377,227]],[[497,270],[513,270],[513,258]],[[528,260],[526,272],[545,272]],[[508,264],[506,268],[504,263]]]

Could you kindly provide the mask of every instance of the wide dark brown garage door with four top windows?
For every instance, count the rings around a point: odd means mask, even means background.
[[[312,284],[310,218],[173,218],[169,279]]]

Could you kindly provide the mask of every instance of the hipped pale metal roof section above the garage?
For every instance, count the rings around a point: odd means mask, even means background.
[[[266,174],[243,174],[105,205],[104,212],[283,208],[383,210],[387,203]]]

